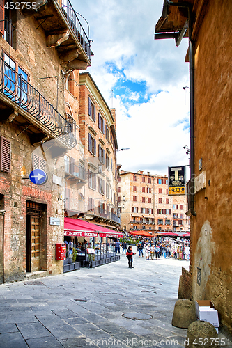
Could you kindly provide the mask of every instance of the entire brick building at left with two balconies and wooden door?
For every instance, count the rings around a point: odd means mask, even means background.
[[[0,5],[0,283],[63,272],[63,155],[76,145],[65,74],[91,63],[90,41],[63,3],[18,6]],[[36,169],[47,173],[42,185],[36,172],[29,180]]]

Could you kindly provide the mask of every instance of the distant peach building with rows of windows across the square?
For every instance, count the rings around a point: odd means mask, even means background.
[[[187,196],[169,196],[167,176],[120,171],[118,207],[127,232],[190,232]]]

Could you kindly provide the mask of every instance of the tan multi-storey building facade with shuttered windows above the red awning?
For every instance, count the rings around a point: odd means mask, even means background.
[[[77,127],[77,145],[64,157],[65,215],[118,230],[115,109],[91,74],[76,70],[66,77],[65,111]]]

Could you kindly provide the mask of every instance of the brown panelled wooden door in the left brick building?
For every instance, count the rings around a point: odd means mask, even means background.
[[[40,270],[40,218],[31,215],[31,272]]]

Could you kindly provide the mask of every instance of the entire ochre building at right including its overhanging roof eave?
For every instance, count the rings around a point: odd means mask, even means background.
[[[232,331],[232,3],[191,0],[184,5],[164,1],[156,32],[180,38],[188,23],[192,296],[211,300],[220,325]]]

